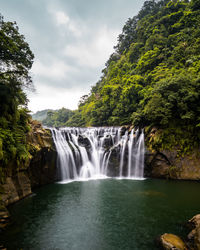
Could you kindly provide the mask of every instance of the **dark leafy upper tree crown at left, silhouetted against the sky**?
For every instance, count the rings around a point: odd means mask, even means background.
[[[1,76],[15,77],[22,85],[32,83],[29,70],[34,55],[23,35],[19,33],[16,22],[4,22],[0,16],[0,69]]]

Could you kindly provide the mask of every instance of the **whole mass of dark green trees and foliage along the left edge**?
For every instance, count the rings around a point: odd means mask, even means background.
[[[29,157],[26,132],[28,126],[27,97],[31,88],[29,70],[33,54],[16,23],[5,22],[0,15],[0,165],[12,159]]]

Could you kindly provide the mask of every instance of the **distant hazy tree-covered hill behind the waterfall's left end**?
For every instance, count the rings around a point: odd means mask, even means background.
[[[42,124],[48,127],[64,127],[67,121],[74,115],[74,111],[70,109],[49,110],[47,117],[42,120]]]

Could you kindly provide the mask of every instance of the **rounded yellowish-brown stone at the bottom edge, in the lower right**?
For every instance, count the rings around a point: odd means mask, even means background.
[[[163,234],[160,236],[160,243],[165,250],[188,250],[182,239],[174,234]]]

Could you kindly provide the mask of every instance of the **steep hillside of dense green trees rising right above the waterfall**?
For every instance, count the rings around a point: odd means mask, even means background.
[[[146,1],[126,22],[100,81],[79,105],[76,124],[155,126],[168,135],[182,128],[182,136],[198,141],[199,24],[199,0]]]

